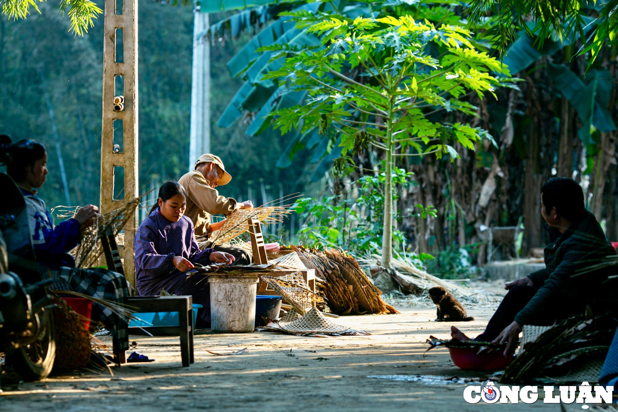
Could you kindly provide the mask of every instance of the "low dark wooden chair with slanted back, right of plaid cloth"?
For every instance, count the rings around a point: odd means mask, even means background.
[[[124,268],[118,254],[118,246],[112,228],[101,236],[101,244],[108,269],[124,275]],[[132,296],[125,302],[134,313],[178,312],[178,326],[148,327],[163,333],[178,332],[180,336],[180,356],[182,366],[193,363],[193,296]],[[143,333],[141,328],[127,327],[128,332]],[[114,363],[120,366],[126,363],[125,351],[120,350],[120,342],[114,339]]]

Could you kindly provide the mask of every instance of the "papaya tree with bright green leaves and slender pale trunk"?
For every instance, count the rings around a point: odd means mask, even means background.
[[[307,93],[302,104],[274,112],[274,127],[282,134],[317,130],[341,148],[344,158],[368,146],[384,152],[382,264],[390,268],[394,159],[433,154],[454,161],[459,157],[455,142],[474,150],[475,142],[493,140],[479,127],[447,122],[444,116],[434,121],[432,115],[475,115],[477,109],[467,98],[483,98],[501,85],[514,87],[509,71],[473,46],[470,31],[455,25],[436,27],[410,15],[352,19],[331,14],[318,20],[297,12],[293,18],[320,43],[263,48],[271,51],[272,60],[286,57],[263,79]]]

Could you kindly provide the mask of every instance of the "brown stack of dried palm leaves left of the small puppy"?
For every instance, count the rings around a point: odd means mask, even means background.
[[[382,293],[358,262],[349,254],[337,249],[319,251],[303,246],[290,246],[298,253],[308,268],[315,269],[316,287],[328,303],[331,312],[347,314],[397,313],[394,307],[384,303]]]

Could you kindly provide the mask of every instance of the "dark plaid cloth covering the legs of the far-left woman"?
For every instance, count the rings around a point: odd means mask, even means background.
[[[129,296],[127,280],[120,273],[111,270],[61,267],[48,273],[53,281],[53,290],[70,290],[120,304],[125,304]],[[129,350],[128,325],[124,319],[98,303],[92,305],[91,318],[103,322],[112,332],[114,343],[119,344],[121,351]]]

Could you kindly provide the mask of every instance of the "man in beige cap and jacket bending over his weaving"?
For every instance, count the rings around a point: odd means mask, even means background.
[[[195,162],[195,170],[185,174],[178,181],[187,191],[187,209],[185,216],[193,221],[195,236],[198,242],[205,241],[211,233],[221,229],[225,220],[216,223],[210,222],[211,215],[229,215],[235,209],[250,209],[251,200],[236,202],[231,197],[223,197],[215,189],[232,180],[226,172],[221,159],[210,153],[201,155]],[[200,242],[201,243],[201,242]],[[251,252],[237,246],[208,246],[215,251],[226,252],[234,256],[235,265],[248,265],[253,260]]]

